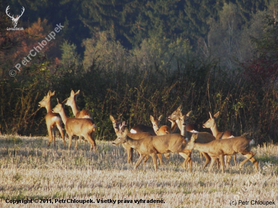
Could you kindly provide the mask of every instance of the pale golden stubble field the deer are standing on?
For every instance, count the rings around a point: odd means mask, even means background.
[[[0,135],[1,207],[229,207],[231,201],[239,200],[278,204],[277,145],[252,148],[259,161],[257,174],[250,162],[240,171],[233,161],[225,174],[217,169],[209,174],[202,170],[204,161],[197,151],[193,152],[192,173],[181,168],[183,159],[178,154],[171,154],[169,161],[163,157],[165,165],[155,172],[151,158],[145,167],[133,170],[123,147],[111,141],[97,140],[96,153],[88,151],[83,141],[77,151],[73,146],[65,149],[61,138],[56,147],[47,147],[47,142],[47,137]],[[242,161],[238,155],[238,162]],[[6,203],[6,199],[26,198],[92,199],[95,203]],[[116,199],[116,203],[98,203],[97,199]],[[119,199],[123,201],[118,204]],[[132,203],[124,203],[125,199]],[[165,203],[136,204],[135,199],[163,199]]]

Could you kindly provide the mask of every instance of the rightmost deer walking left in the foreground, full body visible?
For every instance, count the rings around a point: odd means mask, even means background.
[[[221,170],[222,173],[224,173],[224,155],[232,155],[235,153],[242,153],[242,155],[246,158],[240,163],[240,170],[249,160],[254,164],[255,171],[258,171],[258,162],[253,158],[255,153],[251,151],[251,145],[255,144],[254,139],[250,140],[245,136],[238,136],[230,139],[217,139],[209,143],[202,144],[196,140],[197,137],[198,134],[192,135],[186,149],[197,149],[199,151],[208,153],[212,160],[208,169],[209,172],[211,172],[215,160],[219,158]]]

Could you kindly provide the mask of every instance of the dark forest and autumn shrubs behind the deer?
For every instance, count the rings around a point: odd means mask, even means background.
[[[25,8],[23,31],[7,30],[8,5],[15,16]],[[38,101],[55,90],[54,107],[80,89],[77,105],[102,139],[115,138],[109,114],[129,127],[163,114],[170,125],[183,104],[202,131],[220,111],[219,130],[278,141],[278,1],[0,0],[0,8],[1,133],[47,135]],[[59,23],[56,39],[18,72]]]

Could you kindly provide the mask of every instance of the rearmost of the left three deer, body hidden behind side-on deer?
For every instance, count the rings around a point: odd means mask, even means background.
[[[97,125],[94,122],[94,119],[92,118],[91,112],[88,110],[82,110],[80,111],[79,108],[77,107],[76,101],[77,101],[77,97],[79,96],[80,90],[78,90],[76,93],[74,93],[73,90],[71,90],[70,96],[67,99],[66,105],[70,106],[72,109],[72,113],[75,116],[75,118],[78,119],[91,119],[92,122],[95,125],[95,129],[97,129]],[[87,140],[85,140],[85,144],[86,144]],[[81,137],[79,138],[79,144],[81,143]]]

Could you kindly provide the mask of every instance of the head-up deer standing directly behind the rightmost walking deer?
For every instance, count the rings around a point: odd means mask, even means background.
[[[210,119],[207,120],[207,122],[203,124],[203,127],[210,128],[213,136],[215,136],[215,139],[228,139],[228,138],[233,138],[233,137],[237,136],[236,133],[233,131],[224,131],[224,132],[218,131],[217,125],[216,125],[216,119],[219,116],[219,111],[216,114],[214,114],[214,116],[212,116],[210,112],[209,112],[209,115],[210,115]],[[227,166],[230,163],[230,159],[231,159],[231,155],[227,155]],[[236,154],[234,154],[234,161],[235,161],[235,165],[237,165]]]

